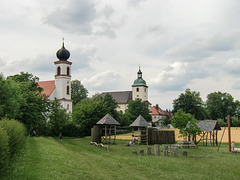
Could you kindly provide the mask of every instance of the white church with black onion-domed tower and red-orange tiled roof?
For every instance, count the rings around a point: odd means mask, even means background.
[[[52,81],[40,81],[38,85],[43,88],[43,94],[46,94],[50,100],[57,98],[63,108],[67,109],[67,112],[72,112],[72,100],[71,100],[71,65],[72,62],[68,61],[70,52],[64,47],[56,53],[58,60],[55,64],[55,80]]]

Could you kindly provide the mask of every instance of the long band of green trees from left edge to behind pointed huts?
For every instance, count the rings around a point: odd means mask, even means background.
[[[148,106],[140,99],[131,101],[125,113],[118,112],[111,95],[99,94],[88,98],[88,91],[80,81],[71,82],[73,112],[67,113],[60,102],[50,101],[38,86],[38,78],[21,72],[4,78],[0,75],[0,118],[16,119],[23,123],[29,135],[64,136],[90,135],[90,130],[107,113],[121,125],[129,125],[139,114],[151,121]]]

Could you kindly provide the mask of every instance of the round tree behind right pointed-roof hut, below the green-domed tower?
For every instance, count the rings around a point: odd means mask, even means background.
[[[139,115],[142,115],[142,117],[148,122],[152,120],[150,110],[146,102],[141,99],[131,100],[124,114],[128,125],[135,121]]]

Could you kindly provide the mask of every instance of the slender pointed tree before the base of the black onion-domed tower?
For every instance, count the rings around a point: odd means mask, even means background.
[[[58,135],[63,131],[63,127],[69,122],[70,116],[67,110],[64,109],[61,103],[55,98],[51,102],[51,112],[49,114],[48,127],[51,135]]]

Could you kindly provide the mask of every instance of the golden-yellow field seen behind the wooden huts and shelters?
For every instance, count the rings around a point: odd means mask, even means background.
[[[176,141],[182,141],[183,137],[179,137],[181,134],[179,134],[178,129],[168,129],[169,131],[175,131],[175,139]],[[224,131],[224,127],[222,127],[222,130],[218,131],[218,142],[222,138],[222,134]],[[118,135],[117,139],[131,139],[131,134],[125,134],[125,135]],[[231,140],[235,142],[240,142],[240,127],[231,127]],[[222,142],[228,142],[228,129],[226,128]]]

